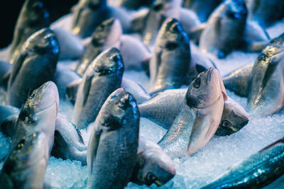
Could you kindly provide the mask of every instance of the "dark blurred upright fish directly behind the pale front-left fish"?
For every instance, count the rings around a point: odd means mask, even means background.
[[[9,76],[7,105],[21,108],[28,93],[53,79],[60,47],[52,30],[43,28],[31,35],[13,62]]]

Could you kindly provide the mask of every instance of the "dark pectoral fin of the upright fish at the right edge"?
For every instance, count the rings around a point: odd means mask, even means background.
[[[264,77],[263,77],[263,80],[262,80],[262,84],[261,84],[262,90],[263,90],[263,88],[266,87],[266,84],[268,83],[269,79],[271,78],[272,74],[274,73],[275,68],[278,66],[280,59],[282,59],[283,57],[284,57],[284,52],[280,52],[277,55],[274,55],[273,57],[271,57],[271,62],[269,62],[268,67],[266,69],[266,73],[264,74]]]

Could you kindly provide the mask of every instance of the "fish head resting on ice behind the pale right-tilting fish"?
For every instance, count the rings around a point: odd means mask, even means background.
[[[238,132],[249,122],[249,114],[241,105],[228,98],[224,102],[224,110],[220,125],[215,133],[218,136],[230,135]]]

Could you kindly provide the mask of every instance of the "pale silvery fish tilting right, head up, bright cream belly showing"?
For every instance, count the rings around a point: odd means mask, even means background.
[[[158,142],[171,157],[194,154],[213,137],[222,118],[226,90],[219,72],[210,68],[192,81],[170,130]]]

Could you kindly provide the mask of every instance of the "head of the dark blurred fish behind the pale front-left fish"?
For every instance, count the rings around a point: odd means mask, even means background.
[[[59,55],[60,47],[58,38],[53,30],[43,28],[31,35],[23,44],[23,51],[33,55]]]

